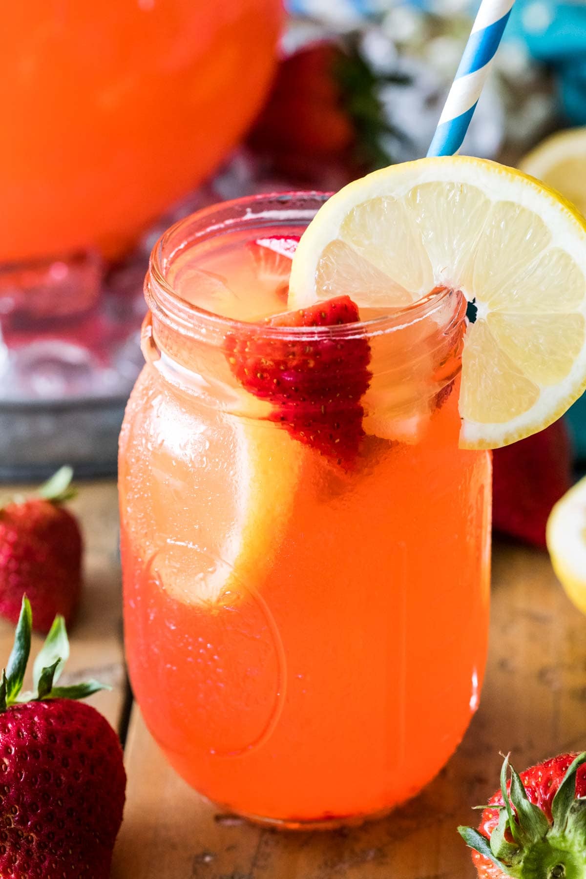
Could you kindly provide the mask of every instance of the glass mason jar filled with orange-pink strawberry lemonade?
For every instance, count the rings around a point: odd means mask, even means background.
[[[292,827],[423,788],[477,707],[488,636],[490,454],[458,447],[466,303],[438,289],[284,326],[322,200],[240,200],[163,236],[119,458],[148,728],[201,794]],[[296,410],[265,393],[291,358],[303,387],[317,370],[342,389],[327,430],[311,391]]]

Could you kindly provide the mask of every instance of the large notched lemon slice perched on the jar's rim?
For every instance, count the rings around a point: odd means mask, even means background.
[[[476,306],[460,445],[538,432],[586,388],[586,220],[521,171],[467,156],[375,171],[332,196],[293,257],[289,305],[404,308],[434,287]]]

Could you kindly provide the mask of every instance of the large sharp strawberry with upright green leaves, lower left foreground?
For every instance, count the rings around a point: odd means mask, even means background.
[[[73,701],[102,689],[56,686],[69,643],[57,617],[21,694],[31,647],[23,600],[0,686],[0,876],[107,879],[122,821],[126,774],[119,739],[95,708]]]

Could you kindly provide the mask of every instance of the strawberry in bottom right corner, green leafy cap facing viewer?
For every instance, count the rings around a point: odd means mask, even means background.
[[[458,828],[481,879],[586,876],[585,764],[586,752],[561,754],[519,775],[505,758],[479,829]]]

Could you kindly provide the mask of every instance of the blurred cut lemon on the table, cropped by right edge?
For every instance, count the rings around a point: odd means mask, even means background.
[[[586,614],[586,477],[553,507],[547,520],[553,570],[582,614]]]

